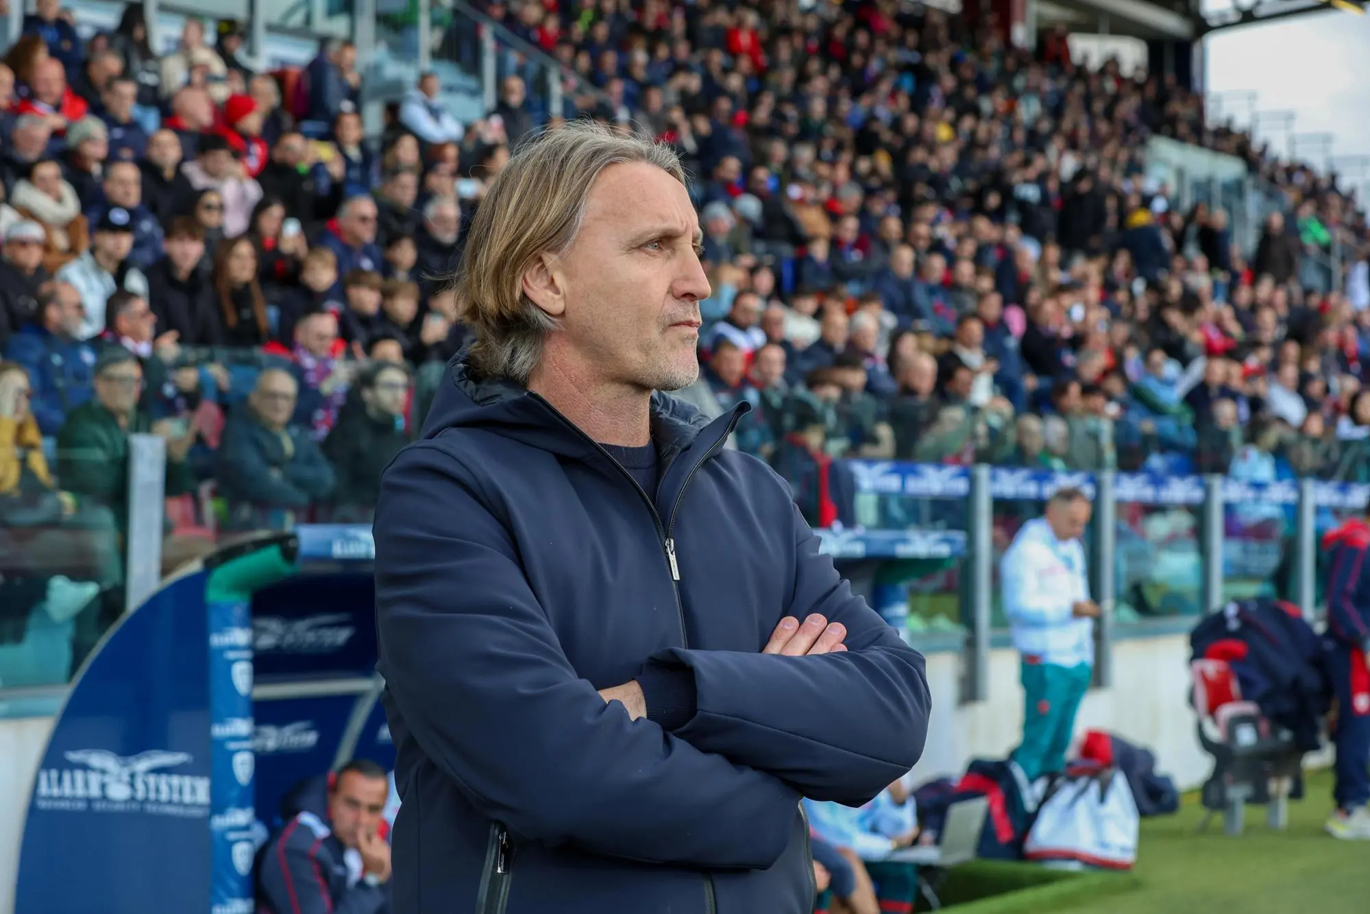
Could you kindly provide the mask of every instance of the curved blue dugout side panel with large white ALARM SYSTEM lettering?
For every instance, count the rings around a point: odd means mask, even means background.
[[[123,617],[75,681],[29,803],[18,914],[207,910],[207,639],[204,574],[189,574]]]

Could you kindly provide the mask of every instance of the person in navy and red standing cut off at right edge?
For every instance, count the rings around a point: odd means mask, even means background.
[[[1328,671],[1337,696],[1337,808],[1328,832],[1370,840],[1370,522],[1351,518],[1322,539],[1328,554]]]

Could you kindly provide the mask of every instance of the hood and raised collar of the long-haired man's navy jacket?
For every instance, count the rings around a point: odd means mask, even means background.
[[[684,451],[710,425],[708,417],[675,397],[652,393],[652,439],[663,463]],[[727,423],[727,412],[717,422]],[[486,429],[500,437],[570,458],[597,454],[588,434],[527,388],[503,378],[480,378],[467,365],[467,349],[447,363],[443,382],[423,421],[421,439],[436,439],[448,429]]]

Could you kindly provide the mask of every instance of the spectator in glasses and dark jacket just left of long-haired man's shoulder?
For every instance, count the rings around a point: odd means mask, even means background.
[[[333,521],[370,521],[381,492],[381,471],[408,444],[404,411],[411,392],[403,365],[373,362],[358,375],[337,425],[322,451],[333,465],[337,485]]]

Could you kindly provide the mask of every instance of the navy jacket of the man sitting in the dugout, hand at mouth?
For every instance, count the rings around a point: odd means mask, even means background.
[[[299,813],[262,848],[258,910],[263,914],[389,911],[388,885],[349,880],[345,852],[326,821],[314,813]]]

